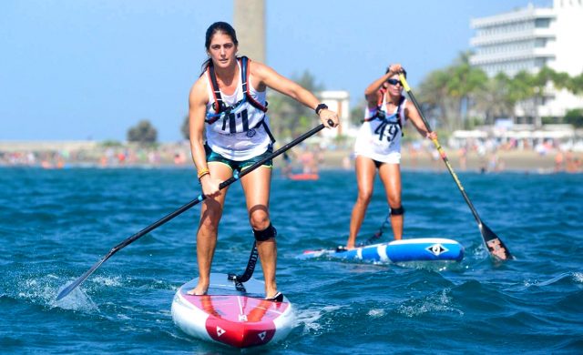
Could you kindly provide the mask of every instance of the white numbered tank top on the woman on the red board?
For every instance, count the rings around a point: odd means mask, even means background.
[[[240,62],[239,66],[239,84],[232,95],[225,95],[222,91],[220,96],[226,106],[232,106],[243,100],[245,93],[243,92],[242,70]],[[207,78],[207,91],[209,93],[209,104],[207,104],[207,118],[216,117],[216,111],[212,107],[215,102],[215,97],[212,93],[212,85],[210,82],[210,72],[207,70],[205,74]],[[255,101],[265,106],[265,91],[256,91],[255,88],[249,85],[249,92]],[[261,125],[261,121],[269,126],[269,117],[261,109],[252,106],[251,102],[245,100],[233,107],[230,112],[223,111],[219,119],[212,124],[206,125],[207,144],[215,152],[223,157],[235,161],[244,161],[257,157],[267,151],[271,144],[271,139]]]

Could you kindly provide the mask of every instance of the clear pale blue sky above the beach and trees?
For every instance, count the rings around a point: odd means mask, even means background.
[[[403,64],[415,86],[469,49],[471,18],[528,3],[266,0],[267,64],[283,76],[309,70],[355,103],[389,64]],[[0,140],[124,140],[144,118],[159,140],[179,140],[205,30],[232,23],[232,4],[0,1]]]

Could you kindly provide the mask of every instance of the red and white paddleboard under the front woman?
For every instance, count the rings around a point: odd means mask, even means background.
[[[227,274],[211,273],[208,295],[191,296],[192,279],[180,286],[172,301],[172,319],[192,337],[247,348],[283,340],[292,330],[290,301],[263,299],[263,282],[240,283]]]

